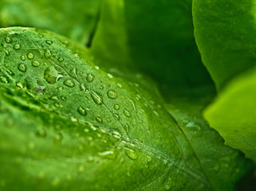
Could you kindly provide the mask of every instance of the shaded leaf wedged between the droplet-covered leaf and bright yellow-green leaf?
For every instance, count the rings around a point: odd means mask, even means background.
[[[225,146],[223,138],[209,127],[202,115],[203,108],[214,95],[215,92],[209,88],[189,91],[183,93],[183,96],[173,94],[167,108],[187,136],[204,172],[212,184],[216,185],[216,190],[234,190],[238,179],[235,175],[230,179],[227,174],[232,174],[237,168],[236,160],[242,158],[242,155],[238,150]]]

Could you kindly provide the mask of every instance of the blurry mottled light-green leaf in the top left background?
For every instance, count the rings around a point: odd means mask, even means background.
[[[93,33],[101,0],[2,0],[0,27],[49,29],[85,45]]]

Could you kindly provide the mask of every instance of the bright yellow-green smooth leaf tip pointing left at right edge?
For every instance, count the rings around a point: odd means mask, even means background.
[[[256,70],[231,80],[205,111],[205,118],[227,145],[242,150],[256,161]]]

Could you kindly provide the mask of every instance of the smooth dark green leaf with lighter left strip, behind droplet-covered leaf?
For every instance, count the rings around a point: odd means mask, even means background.
[[[195,45],[191,1],[106,0],[100,13],[92,43],[98,59],[139,68],[161,86],[211,84]]]

